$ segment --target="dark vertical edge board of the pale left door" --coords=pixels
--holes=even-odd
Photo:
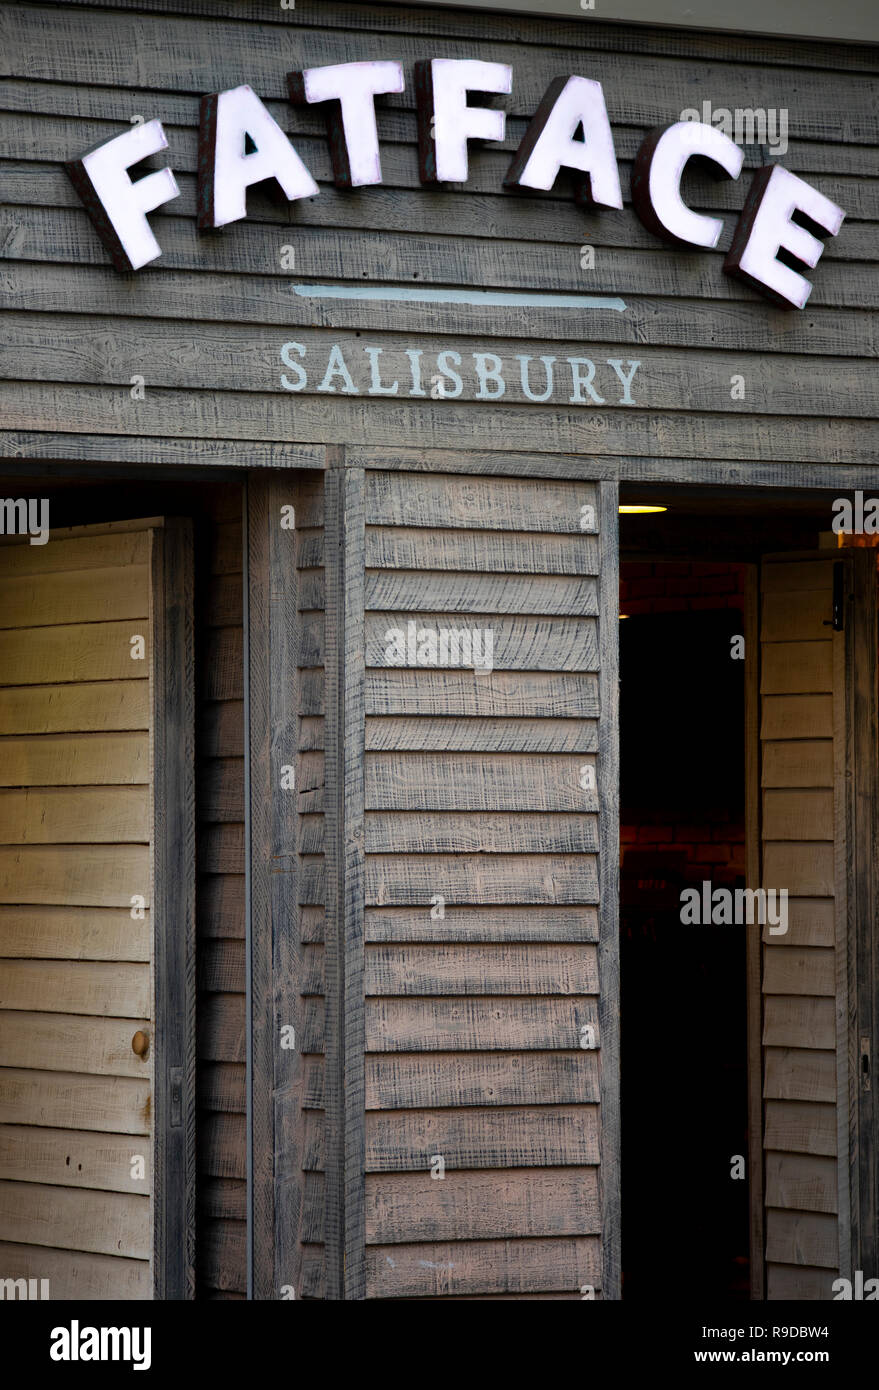
[[[195,1298],[195,631],[192,523],[153,523],[150,564],[153,1297]]]

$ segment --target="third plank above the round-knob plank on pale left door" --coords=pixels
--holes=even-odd
[[[90,908],[150,901],[147,845],[0,848],[0,902]]]

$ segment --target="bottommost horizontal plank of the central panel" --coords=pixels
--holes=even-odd
[[[441,1298],[451,1294],[529,1294],[601,1287],[597,1237],[453,1240],[446,1244],[370,1245],[367,1298]]]

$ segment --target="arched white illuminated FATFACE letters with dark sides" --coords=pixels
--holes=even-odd
[[[405,89],[399,63],[341,63],[288,74],[293,104],[318,106],[327,117],[332,174],[338,188],[381,183],[376,101]],[[414,65],[419,167],[426,185],[465,183],[471,140],[503,140],[506,115],[498,97],[513,89],[513,71],[502,63],[431,58]],[[140,270],[161,254],[147,213],[178,196],[170,168],[132,179],[129,170],[167,149],[160,121],[138,125],[67,164],[70,177],[122,271]],[[648,231],[676,246],[712,249],[723,220],[693,211],[682,193],[690,160],[701,160],[719,178],[737,179],[743,153],[722,131],[698,121],[677,121],[652,131],[641,145],[631,174],[634,210]],[[613,135],[599,82],[556,78],[548,88],[503,179],[505,188],[549,192],[561,170],[574,175],[574,196],[584,207],[622,208],[623,197]],[[197,220],[203,231],[228,227],[248,215],[248,189],[270,183],[293,203],[320,190],[291,140],[249,86],[202,99],[199,131]],[[777,304],[803,309],[811,284],[787,261],[814,268],[821,236],[836,236],[840,207],[782,165],[757,172],[732,249],[723,263]],[[779,260],[779,254],[784,259]]]

